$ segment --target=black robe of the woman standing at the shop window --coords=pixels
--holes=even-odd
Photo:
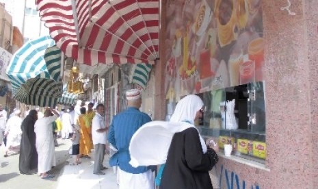
[[[176,133],[170,144],[160,189],[211,189],[213,186],[209,171],[217,161],[213,149],[202,153],[196,128]]]

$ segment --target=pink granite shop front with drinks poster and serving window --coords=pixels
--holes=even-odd
[[[201,97],[196,126],[220,147],[215,188],[318,187],[318,3],[289,2],[162,1],[155,97],[165,106],[155,103],[155,119]]]

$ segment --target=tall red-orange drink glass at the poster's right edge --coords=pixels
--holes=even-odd
[[[248,45],[248,58],[255,62],[255,80],[263,80],[264,39],[256,38]]]

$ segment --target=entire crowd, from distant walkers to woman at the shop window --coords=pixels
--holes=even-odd
[[[21,174],[38,173],[42,179],[50,179],[54,177],[49,171],[55,166],[56,138],[70,139],[70,164],[80,164],[81,157],[91,158],[94,149],[93,174],[105,175],[103,161],[109,142],[115,149],[109,165],[116,168],[120,189],[213,188],[209,171],[217,164],[218,147],[209,142],[211,138],[204,142],[194,126],[202,118],[204,104],[200,97],[187,95],[181,99],[168,122],[152,121],[140,111],[140,90],[128,90],[126,99],[127,109],[114,116],[109,127],[103,104],[96,105],[96,111],[94,103],[86,107],[77,103],[61,112],[47,108],[43,115],[39,110],[27,110],[24,119],[20,110],[14,110],[8,121],[0,105],[0,144],[3,136],[7,138],[4,156],[17,150]],[[157,166],[160,168],[155,178]]]

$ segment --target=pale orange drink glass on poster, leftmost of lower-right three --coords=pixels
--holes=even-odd
[[[230,86],[239,85],[239,64],[243,63],[243,54],[231,54],[228,60],[228,72],[230,73]]]

